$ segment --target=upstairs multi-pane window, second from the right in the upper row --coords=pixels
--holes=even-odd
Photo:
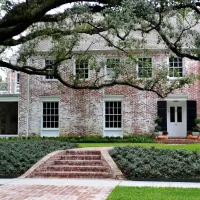
[[[138,59],[138,78],[152,77],[152,59],[139,58]]]

